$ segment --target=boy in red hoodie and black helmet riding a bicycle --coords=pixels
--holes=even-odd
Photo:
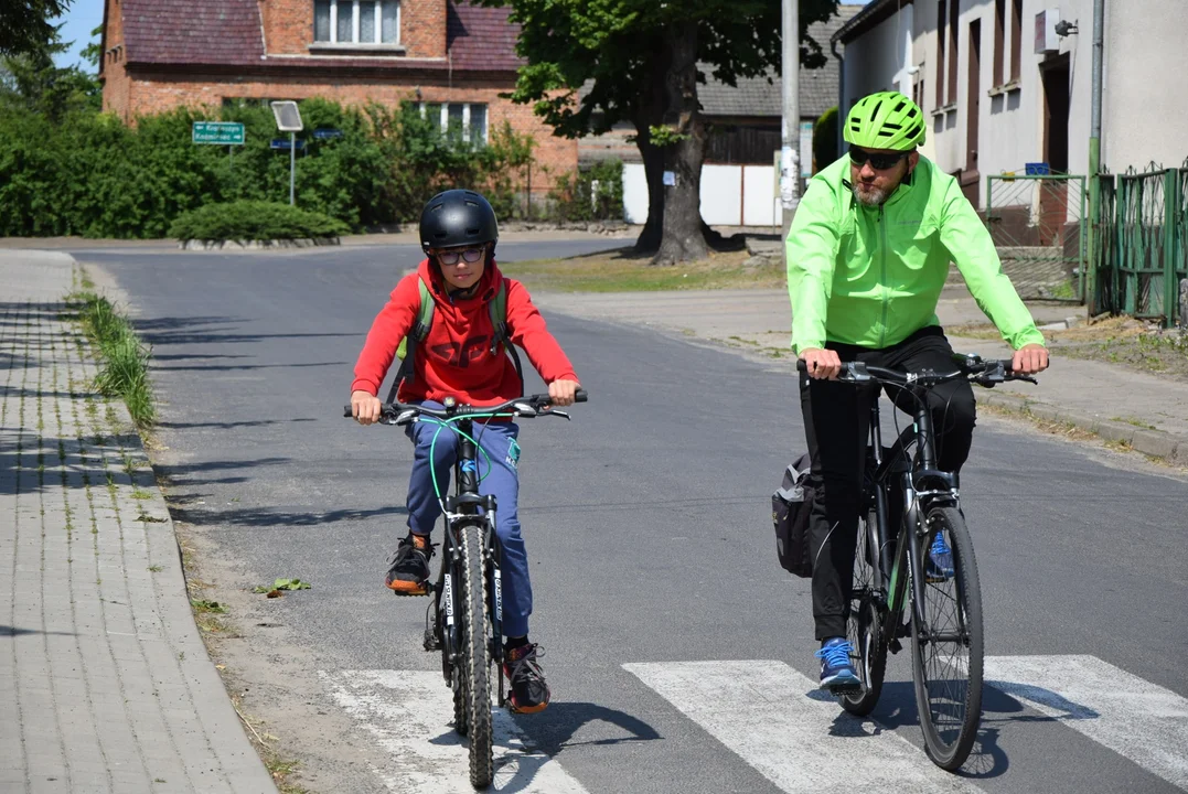
[[[355,419],[369,425],[379,419],[380,383],[396,356],[400,339],[417,322],[421,285],[429,287],[435,303],[434,319],[424,342],[416,344],[412,371],[400,382],[400,402],[426,402],[441,407],[447,396],[469,405],[498,405],[520,396],[523,383],[516,366],[501,349],[492,345],[494,328],[488,304],[501,284],[507,294],[507,338],[523,348],[549,385],[555,406],[574,402],[577,375],[561,345],[552,338],[544,318],[518,281],[504,279],[495,266],[499,227],[486,198],[469,190],[447,190],[429,199],[421,212],[421,248],[426,259],[416,274],[403,278],[372,323],[367,342],[355,364],[350,405]],[[434,547],[429,534],[441,515],[434,493],[437,482],[448,484],[457,455],[457,437],[442,431],[437,436],[436,459],[430,462],[430,445],[438,426],[415,423],[409,437],[415,444],[409,481],[409,535],[396,551],[386,584],[397,595],[428,592],[429,559]],[[517,517],[519,496],[519,427],[511,421],[488,421],[476,433],[487,455],[480,455],[479,489],[494,494],[499,502],[495,532],[503,546],[504,570],[504,673],[511,681],[511,710],[518,713],[542,711],[549,705],[549,686],[537,662],[543,649],[527,640],[527,617],[532,612],[532,587],[527,555]],[[489,463],[488,463],[489,460]]]

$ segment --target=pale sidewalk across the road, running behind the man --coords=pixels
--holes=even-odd
[[[632,325],[687,339],[725,345],[779,369],[792,371],[791,307],[784,290],[722,290],[563,294],[535,292],[548,310]],[[1036,323],[1063,320],[1080,306],[1029,305]],[[986,323],[965,287],[946,288],[936,310],[941,324]],[[1005,343],[950,337],[954,349],[986,357],[1010,357]],[[1144,455],[1188,465],[1188,385],[1118,364],[1054,356],[1040,385],[1009,383],[975,389],[982,405],[1069,423],[1106,440],[1123,442]],[[1142,425],[1149,425],[1144,427]]]

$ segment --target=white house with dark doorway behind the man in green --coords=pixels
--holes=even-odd
[[[1101,164],[1180,165],[1188,0],[1104,2]],[[1093,0],[873,0],[833,40],[845,44],[840,107],[876,90],[911,96],[931,122],[923,153],[975,207],[987,174],[1088,172]]]

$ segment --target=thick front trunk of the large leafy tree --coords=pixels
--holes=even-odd
[[[697,23],[671,25],[664,33],[671,53],[665,120],[678,140],[664,147],[664,170],[675,185],[664,186],[664,233],[656,265],[675,265],[708,255],[701,231],[701,164],[706,126],[697,107]]]

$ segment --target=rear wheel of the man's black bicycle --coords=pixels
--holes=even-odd
[[[846,639],[851,644],[851,659],[862,688],[838,695],[847,712],[865,717],[874,710],[883,693],[886,674],[887,643],[883,637],[883,609],[874,596],[874,555],[871,550],[878,542],[874,510],[858,522],[858,544],[854,547],[854,578],[849,589],[849,617],[846,620]]]

